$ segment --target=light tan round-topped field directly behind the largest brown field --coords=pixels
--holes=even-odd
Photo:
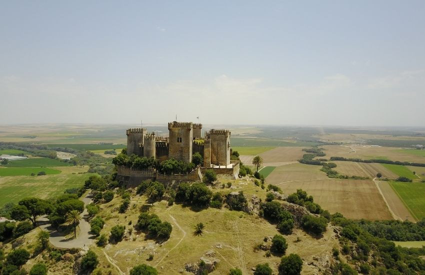
[[[321,166],[293,163],[276,167],[268,176],[267,183],[277,184],[287,181],[328,179],[320,171]]]

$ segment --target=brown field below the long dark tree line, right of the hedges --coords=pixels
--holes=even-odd
[[[368,176],[373,178],[377,173],[381,173],[383,177],[397,177],[397,175],[387,168],[383,167],[380,163],[361,163],[352,161],[332,161],[336,163],[334,170],[346,174],[348,176]]]

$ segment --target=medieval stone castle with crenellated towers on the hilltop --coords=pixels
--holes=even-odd
[[[146,128],[132,128],[126,131],[127,154],[154,157],[159,161],[169,158],[191,162],[192,155],[198,152],[202,167],[231,168],[230,131],[211,129],[202,136],[202,124],[193,122],[168,123],[168,137],[155,136]]]

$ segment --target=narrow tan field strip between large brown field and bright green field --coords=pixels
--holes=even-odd
[[[388,181],[376,180],[375,183],[379,188],[381,194],[383,195],[387,206],[394,214],[395,218],[399,220],[405,220],[406,217],[408,217],[408,220],[416,221],[416,219],[412,217],[409,210],[401,201],[400,197],[391,188]]]

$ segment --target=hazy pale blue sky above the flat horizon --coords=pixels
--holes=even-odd
[[[425,126],[425,1],[0,0],[0,123]]]

